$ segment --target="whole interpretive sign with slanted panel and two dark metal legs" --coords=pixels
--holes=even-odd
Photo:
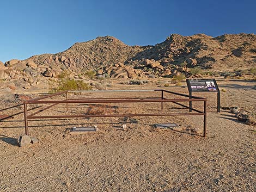
[[[188,92],[217,92],[217,112],[221,112],[221,93],[215,79],[186,79]],[[192,102],[190,101],[190,112],[192,112]]]

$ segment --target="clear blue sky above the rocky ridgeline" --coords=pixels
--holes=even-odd
[[[256,33],[256,1],[0,1],[0,60],[64,51],[111,35],[128,45],[155,45],[173,33]]]

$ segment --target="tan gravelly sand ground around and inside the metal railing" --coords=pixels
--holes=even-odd
[[[219,85],[225,89],[221,92],[222,107],[239,106],[255,114],[255,82],[221,81]],[[111,89],[159,87],[116,84]],[[186,88],[164,89],[187,94]],[[216,113],[216,94],[201,96],[210,101],[206,138],[200,136],[202,116],[31,120],[29,131],[40,141],[19,147],[17,138],[24,133],[23,114],[3,120],[0,191],[255,191],[255,127],[237,121],[228,111]],[[13,104],[2,100],[1,108]],[[88,106],[70,106],[70,113],[81,113],[82,107],[88,111]],[[200,104],[194,107],[202,109]],[[54,107],[41,115],[58,114],[64,108]],[[120,104],[117,110],[161,112],[156,103]],[[166,104],[163,111],[187,109]],[[153,127],[163,122],[177,123],[182,130]],[[126,128],[122,127],[124,123]],[[96,125],[99,132],[69,134],[71,127],[85,125]]]

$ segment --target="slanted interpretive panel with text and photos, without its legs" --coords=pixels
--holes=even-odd
[[[215,79],[187,79],[189,92],[219,92]]]

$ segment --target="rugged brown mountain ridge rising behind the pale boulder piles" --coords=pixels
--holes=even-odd
[[[172,34],[155,46],[128,46],[112,36],[76,43],[64,52],[35,55],[38,65],[58,65],[71,70],[97,69],[123,63],[140,65],[144,59],[159,61],[164,67],[182,65],[202,69],[255,67],[256,35],[233,34],[212,38],[204,34]]]

